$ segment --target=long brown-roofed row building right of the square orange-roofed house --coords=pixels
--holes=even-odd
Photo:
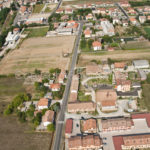
[[[100,126],[102,132],[123,131],[131,129],[133,123],[130,118],[106,118],[101,120]]]

